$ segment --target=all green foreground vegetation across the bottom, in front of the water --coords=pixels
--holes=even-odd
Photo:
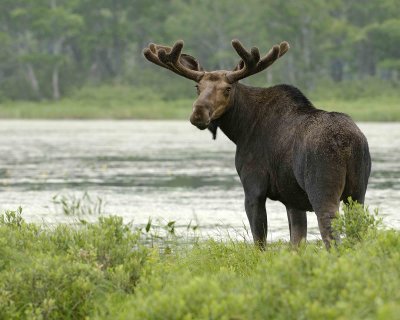
[[[0,318],[396,319],[400,233],[357,204],[336,221],[342,242],[260,252],[192,239],[119,217],[54,227],[0,218]],[[186,239],[187,240],[187,239]]]

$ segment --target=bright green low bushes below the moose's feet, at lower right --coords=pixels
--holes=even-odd
[[[395,231],[332,252],[319,243],[299,250],[272,244],[260,252],[244,243],[203,242],[153,257],[135,295],[111,297],[99,317],[396,319],[399,245]]]

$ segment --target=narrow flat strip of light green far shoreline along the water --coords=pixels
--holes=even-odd
[[[313,104],[327,111],[344,112],[357,122],[400,121],[400,98],[378,96],[356,100],[311,99]],[[131,100],[65,98],[45,100],[4,101],[0,103],[0,119],[35,120],[187,120],[191,99]]]

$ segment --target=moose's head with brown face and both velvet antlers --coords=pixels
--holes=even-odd
[[[237,66],[232,71],[210,72],[205,71],[194,57],[181,53],[183,41],[177,41],[173,47],[151,43],[143,50],[149,61],[197,83],[198,98],[193,103],[190,122],[201,130],[232,106],[237,81],[266,69],[289,49],[289,44],[284,41],[261,58],[256,47],[248,51],[239,40],[232,40],[232,46],[241,58]]]

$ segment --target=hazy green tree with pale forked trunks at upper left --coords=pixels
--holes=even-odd
[[[51,93],[59,99],[60,69],[68,62],[68,43],[83,26],[81,16],[73,12],[78,0],[21,0],[11,10],[16,28],[17,55],[26,66],[32,90],[41,96],[35,69],[46,69],[51,81]]]

